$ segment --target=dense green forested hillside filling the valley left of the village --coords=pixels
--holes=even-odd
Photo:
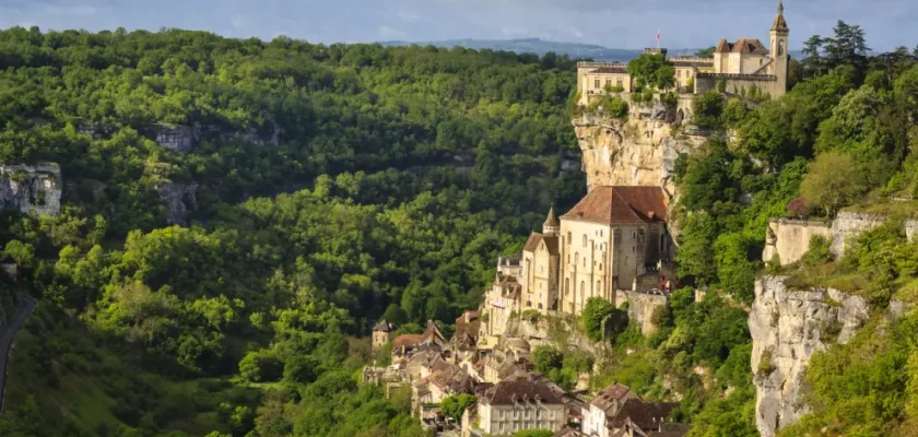
[[[64,187],[57,217],[2,216],[39,306],[0,434],[421,435],[408,393],[357,388],[362,339],[475,308],[584,192],[574,79],[551,55],[0,32],[0,161]],[[205,134],[183,153],[157,125]],[[166,182],[199,186],[188,226]]]

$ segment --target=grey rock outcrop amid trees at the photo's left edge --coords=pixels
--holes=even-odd
[[[0,209],[57,215],[62,187],[58,164],[0,165]]]

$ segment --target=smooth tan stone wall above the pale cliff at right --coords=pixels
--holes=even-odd
[[[762,260],[768,262],[777,255],[781,265],[799,261],[810,250],[812,237],[820,236],[828,241],[833,239],[832,228],[825,222],[772,218],[768,228],[770,234],[766,236]]]

